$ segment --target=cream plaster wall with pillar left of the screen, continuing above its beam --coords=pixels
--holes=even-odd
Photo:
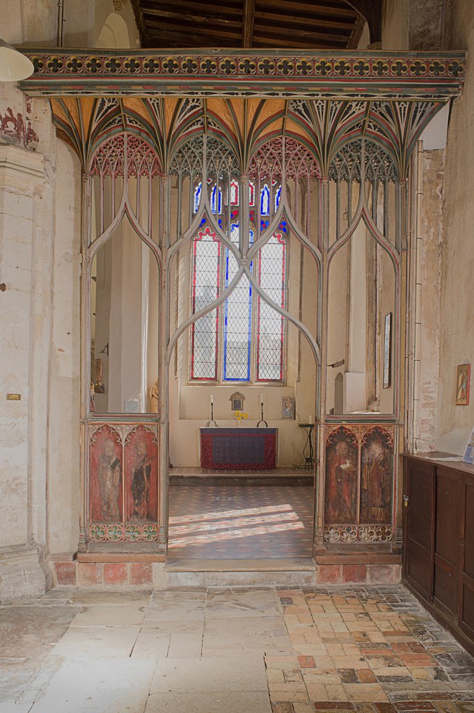
[[[105,0],[104,0],[105,2]],[[94,3],[74,8],[92,44]],[[1,36],[54,46],[57,2],[5,0]],[[133,33],[132,33],[133,35]],[[66,41],[68,36],[66,30]],[[41,593],[78,547],[81,167],[47,100],[0,84],[0,600]],[[5,394],[21,394],[6,401]]]

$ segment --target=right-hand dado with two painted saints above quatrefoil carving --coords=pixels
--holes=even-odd
[[[326,428],[324,542],[386,543],[393,535],[394,430]]]

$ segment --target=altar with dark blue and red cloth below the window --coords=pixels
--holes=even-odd
[[[277,467],[278,429],[200,429],[201,468],[266,471]]]

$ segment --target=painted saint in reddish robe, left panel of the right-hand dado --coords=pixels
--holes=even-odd
[[[326,523],[356,521],[356,449],[345,440],[331,448],[326,471]]]

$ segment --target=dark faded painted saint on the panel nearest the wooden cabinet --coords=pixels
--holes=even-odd
[[[391,522],[392,453],[375,434],[362,451],[361,520],[366,523]]]

